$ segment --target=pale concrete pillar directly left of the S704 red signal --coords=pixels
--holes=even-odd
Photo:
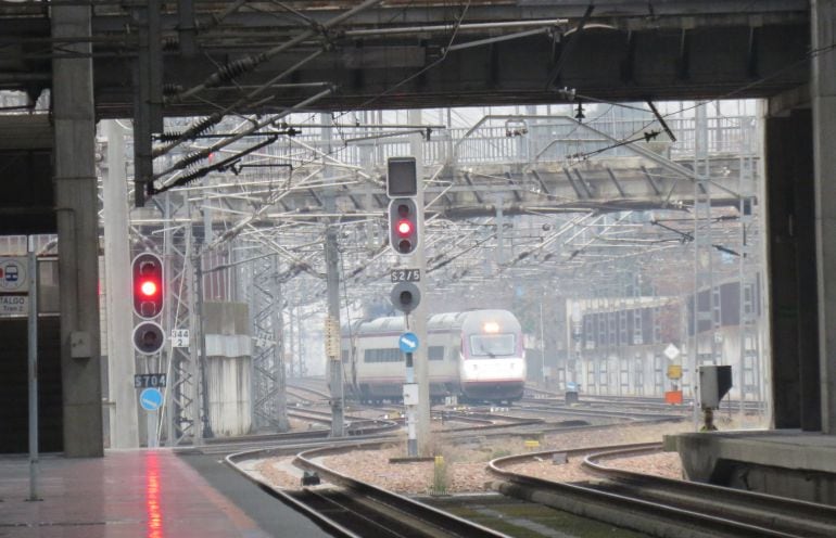
[[[104,123],[107,138],[107,177],[103,181],[104,272],[107,304],[107,389],[111,448],[139,447],[136,363],[131,342],[132,310],[128,252],[128,190],[125,170],[125,129]]]

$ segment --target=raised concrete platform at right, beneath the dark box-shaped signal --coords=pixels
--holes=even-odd
[[[836,505],[836,436],[800,430],[670,436],[692,481]]]

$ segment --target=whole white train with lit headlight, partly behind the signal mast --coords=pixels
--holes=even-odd
[[[403,317],[379,318],[343,329],[342,360],[347,384],[362,401],[397,400],[406,380],[397,341]],[[430,396],[470,401],[522,397],[525,355],[517,318],[506,310],[439,313],[427,322]]]

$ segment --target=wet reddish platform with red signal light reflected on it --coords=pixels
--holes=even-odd
[[[25,456],[0,456],[0,537],[326,537],[217,456],[109,450],[46,454],[30,501]]]

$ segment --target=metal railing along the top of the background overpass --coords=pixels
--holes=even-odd
[[[751,132],[756,121],[755,116],[708,118],[709,157],[738,156],[742,148],[757,155],[759,141],[744,144],[744,137]],[[425,131],[423,163],[429,166],[569,163],[596,157],[635,156],[637,153],[631,149],[632,144],[642,144],[672,161],[693,158],[696,140],[694,119],[671,118],[667,119],[667,124],[676,137],[675,142],[651,116],[596,119],[583,124],[567,116],[485,116],[473,128],[432,130],[429,137]],[[385,127],[366,128],[360,133],[341,130],[334,133],[331,141],[322,140],[319,128],[309,132],[283,139],[258,155],[299,167],[321,163],[327,154],[343,165],[368,168],[410,151],[407,133],[393,132]],[[645,140],[645,133],[651,132],[658,133]],[[363,140],[353,140],[352,137]],[[610,139],[626,143],[617,145]]]

